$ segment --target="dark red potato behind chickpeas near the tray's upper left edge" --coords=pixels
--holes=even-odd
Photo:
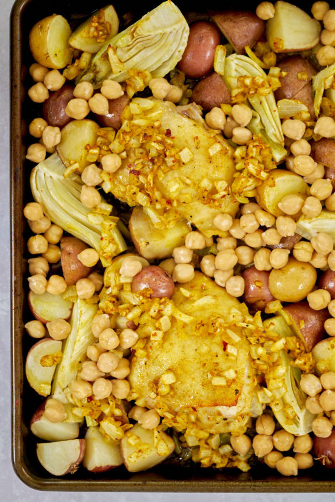
[[[72,120],[65,113],[65,108],[70,99],[74,98],[73,89],[72,85],[65,84],[58,91],[51,92],[44,101],[43,116],[49,126],[62,128]]]

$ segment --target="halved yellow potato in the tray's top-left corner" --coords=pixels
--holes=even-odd
[[[30,31],[29,46],[34,59],[47,68],[64,68],[72,61],[71,28],[63,16],[42,19]]]

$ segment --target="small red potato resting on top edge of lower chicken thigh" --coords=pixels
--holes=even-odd
[[[152,298],[171,298],[174,293],[174,282],[161,267],[149,265],[149,267],[144,267],[132,282],[133,293],[146,288],[152,289]]]

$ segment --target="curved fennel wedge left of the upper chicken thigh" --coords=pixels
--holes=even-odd
[[[30,186],[33,197],[44,214],[71,235],[97,250],[102,265],[127,249],[117,227],[118,218],[109,216],[111,206],[102,202],[91,210],[80,201],[81,178],[64,178],[65,166],[55,153],[32,170]]]

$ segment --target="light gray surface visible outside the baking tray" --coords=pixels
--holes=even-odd
[[[107,2],[106,2],[107,3]],[[63,493],[39,492],[27,487],[14,473],[11,464],[11,402],[10,402],[10,224],[9,224],[9,17],[13,0],[0,0],[0,498],[3,502],[330,502],[333,494],[169,494],[169,493]],[[334,473],[335,474],[335,473]]]

